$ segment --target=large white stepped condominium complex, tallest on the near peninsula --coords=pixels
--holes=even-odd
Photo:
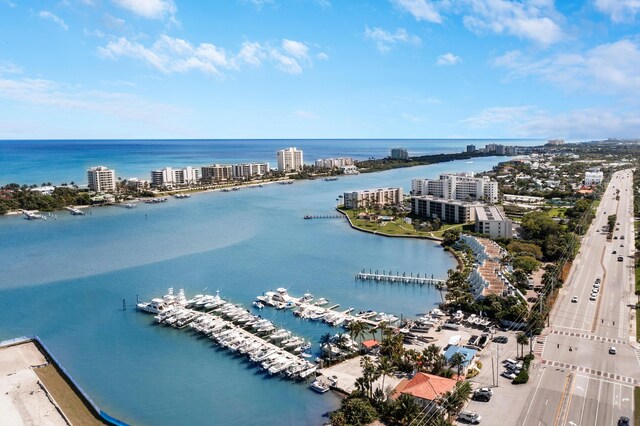
[[[451,200],[498,201],[498,182],[487,176],[476,178],[472,173],[443,174],[439,179],[413,179],[413,195],[433,195]]]

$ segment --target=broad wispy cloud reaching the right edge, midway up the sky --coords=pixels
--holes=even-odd
[[[494,65],[511,70],[511,78],[539,76],[568,90],[640,94],[640,45],[619,40],[585,53],[561,53],[532,60],[519,51],[507,52]]]

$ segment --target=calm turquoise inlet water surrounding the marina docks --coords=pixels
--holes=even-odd
[[[187,296],[220,289],[249,306],[287,287],[341,308],[415,316],[440,301],[429,287],[355,282],[362,268],[446,276],[455,266],[428,241],[376,237],[332,211],[345,190],[401,185],[414,177],[490,169],[504,158],[202,193],[135,209],[58,212],[58,220],[0,218],[0,340],[38,334],[109,414],[132,424],[320,424],[338,399],[270,378],[209,340],[153,324],[136,312],[168,287]],[[128,309],[122,310],[122,299]],[[262,315],[314,341],[337,329],[265,309]]]

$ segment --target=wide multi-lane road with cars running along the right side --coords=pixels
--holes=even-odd
[[[615,173],[560,290],[551,327],[536,339],[533,388],[519,425],[615,425],[620,416],[633,418],[640,349],[630,307],[637,301],[632,197],[631,172]],[[612,214],[619,224],[608,241],[602,229]],[[590,300],[597,278],[600,291]],[[616,354],[609,353],[612,346]]]

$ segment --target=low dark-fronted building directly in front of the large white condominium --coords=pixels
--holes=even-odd
[[[411,197],[411,212],[425,219],[438,218],[446,223],[466,223],[475,220],[475,207],[478,203],[459,200],[445,200],[431,195]]]

